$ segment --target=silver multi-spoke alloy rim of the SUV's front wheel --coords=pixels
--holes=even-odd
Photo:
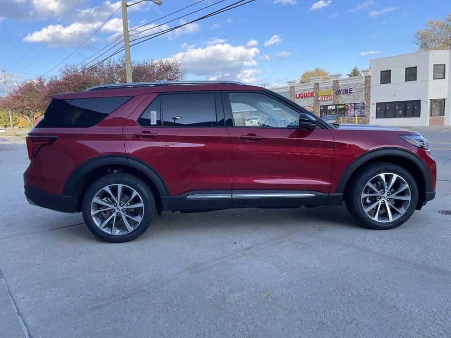
[[[392,172],[384,172],[370,179],[361,194],[365,214],[373,221],[396,221],[408,210],[412,199],[406,180]]]

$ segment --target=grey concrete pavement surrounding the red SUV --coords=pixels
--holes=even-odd
[[[451,131],[423,133],[449,149],[437,198],[396,229],[345,207],[166,212],[124,244],[28,205],[24,140],[0,137],[0,337],[450,337]]]

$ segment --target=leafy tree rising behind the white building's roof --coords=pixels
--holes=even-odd
[[[427,21],[426,29],[416,31],[413,41],[420,52],[451,49],[451,14],[443,21]]]

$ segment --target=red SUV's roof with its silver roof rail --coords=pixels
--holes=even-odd
[[[57,99],[111,97],[111,96],[136,96],[151,93],[174,93],[194,91],[262,91],[264,88],[250,86],[232,81],[178,81],[178,82],[141,82],[113,85],[101,85],[88,88],[84,92],[73,92],[51,95]]]

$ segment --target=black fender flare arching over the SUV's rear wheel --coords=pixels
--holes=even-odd
[[[63,195],[72,196],[77,188],[78,182],[80,182],[84,175],[98,167],[107,165],[122,165],[137,169],[148,176],[155,184],[160,196],[168,195],[168,189],[155,169],[136,158],[126,155],[101,155],[87,160],[70,174],[64,185]]]

